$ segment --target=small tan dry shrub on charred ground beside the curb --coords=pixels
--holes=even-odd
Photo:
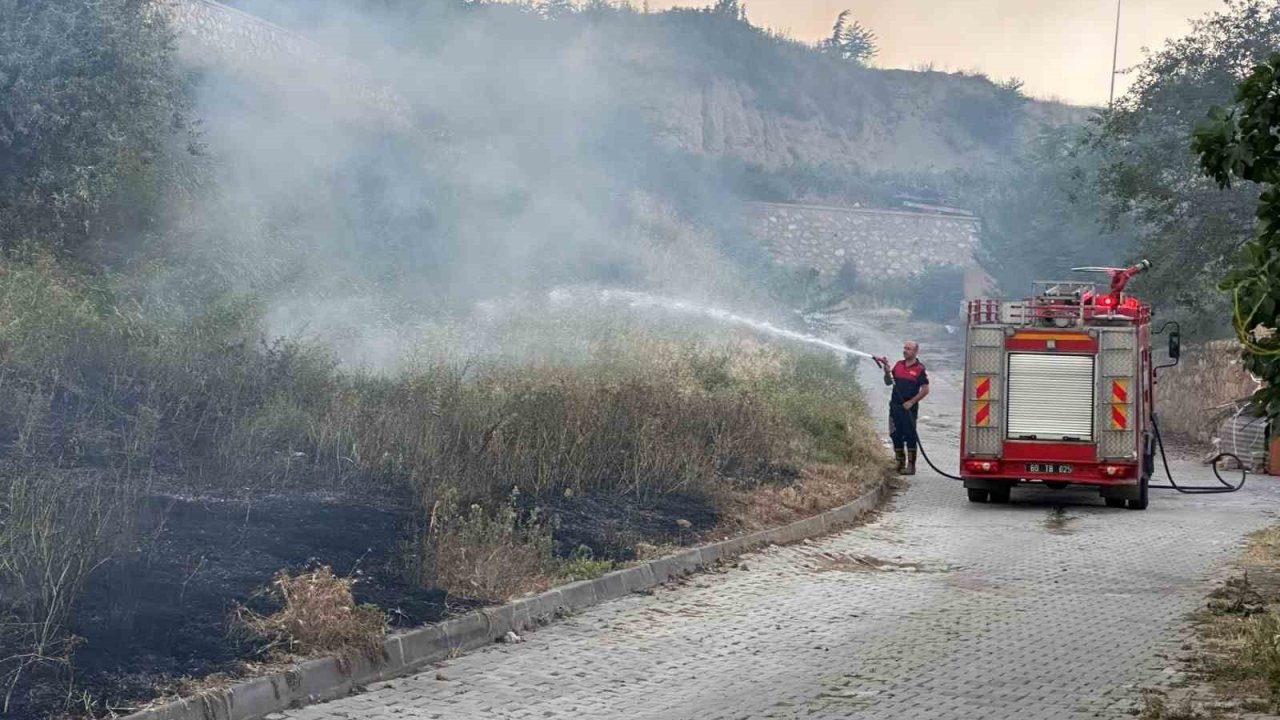
[[[237,607],[234,625],[265,644],[264,656],[311,656],[360,652],[383,656],[387,615],[370,605],[356,605],[352,578],[338,578],[324,566],[289,575],[276,574],[268,594],[280,605],[271,615]]]

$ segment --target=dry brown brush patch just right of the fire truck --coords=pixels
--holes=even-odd
[[[1244,369],[1235,341],[1185,346],[1181,363],[1161,372],[1156,386],[1160,429],[1166,437],[1208,445],[1217,430],[1215,419],[1231,402],[1253,395],[1257,387]]]

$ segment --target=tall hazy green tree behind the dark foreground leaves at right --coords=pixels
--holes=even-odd
[[[1220,192],[1197,167],[1187,138],[1203,109],[1230,101],[1252,67],[1280,47],[1280,0],[1229,0],[1192,32],[1152,54],[1132,88],[1094,128],[1110,158],[1100,174],[1108,217],[1138,232],[1133,255],[1155,260],[1143,292],[1212,327],[1222,313],[1213,292],[1248,237],[1253,197]]]

